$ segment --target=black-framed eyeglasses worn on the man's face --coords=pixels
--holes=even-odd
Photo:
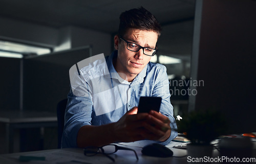
[[[127,50],[130,50],[133,52],[138,52],[140,49],[142,49],[143,54],[145,54],[147,56],[154,56],[156,54],[156,52],[158,51],[157,49],[144,48],[143,46],[140,46],[139,44],[125,40],[121,36],[119,38],[127,43],[127,46],[126,46]]]

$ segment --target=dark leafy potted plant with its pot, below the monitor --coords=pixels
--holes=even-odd
[[[197,110],[177,116],[177,127],[191,142],[187,144],[188,156],[210,156],[210,142],[225,132],[225,120],[218,111]]]

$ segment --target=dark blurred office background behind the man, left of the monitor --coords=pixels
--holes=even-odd
[[[1,0],[0,4],[0,40],[52,51],[45,56],[25,52],[24,59],[0,58],[1,111],[55,111],[57,102],[69,91],[69,68],[90,54],[109,55],[120,13],[140,6],[151,11],[163,26],[160,53],[183,61],[166,64],[168,74],[189,76],[195,1]],[[187,106],[187,101],[182,103]],[[5,127],[1,124],[0,128],[0,142],[5,145]],[[45,128],[44,138],[40,138],[40,130],[15,130],[14,151],[57,148],[56,128]],[[0,153],[6,153],[4,146]]]

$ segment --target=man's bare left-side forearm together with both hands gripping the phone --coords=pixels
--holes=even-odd
[[[138,114],[137,111],[138,107],[132,108],[116,123],[82,126],[77,134],[77,146],[103,146],[142,139],[163,142],[170,136],[170,121],[166,116],[153,110]]]

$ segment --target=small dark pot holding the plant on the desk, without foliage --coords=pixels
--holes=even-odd
[[[187,157],[189,163],[204,163],[204,160],[212,156],[212,145],[187,144]]]

